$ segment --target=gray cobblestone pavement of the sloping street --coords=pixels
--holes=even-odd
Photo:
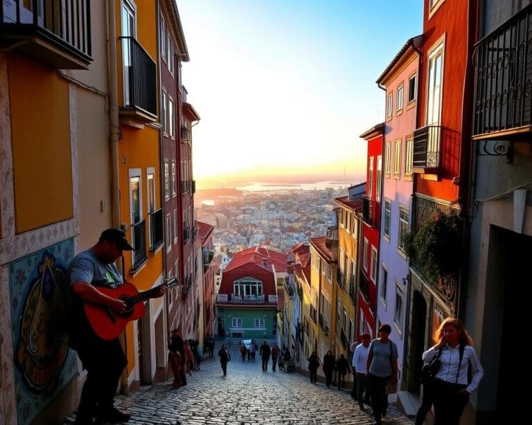
[[[215,353],[220,349],[217,341]],[[257,353],[255,363],[242,363],[235,344],[227,377],[217,359],[206,360],[187,377],[188,385],[171,388],[166,383],[145,387],[128,396],[118,395],[115,405],[129,410],[127,424],[251,425],[251,424],[360,424],[373,423],[348,390],[312,384],[296,373],[263,372]],[[390,406],[383,424],[411,424]],[[69,418],[67,424],[73,419]]]

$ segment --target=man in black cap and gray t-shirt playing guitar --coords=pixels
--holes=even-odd
[[[69,266],[71,302],[69,303],[69,344],[78,352],[87,379],[83,386],[75,424],[97,422],[127,422],[129,413],[114,407],[113,400],[127,358],[118,338],[106,340],[94,332],[83,303],[99,305],[109,315],[123,315],[130,306],[122,299],[108,296],[98,287],[117,288],[124,282],[114,262],[123,251],[134,248],[125,233],[116,228],[104,230],[92,248],[82,251]],[[152,290],[149,298],[161,297],[166,286]]]

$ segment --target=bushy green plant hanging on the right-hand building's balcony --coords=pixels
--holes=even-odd
[[[454,214],[437,213],[415,232],[405,233],[407,255],[430,282],[442,276],[455,276],[461,264],[461,219]]]

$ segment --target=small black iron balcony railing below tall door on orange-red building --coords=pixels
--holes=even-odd
[[[414,168],[440,168],[440,125],[425,125],[414,130]]]

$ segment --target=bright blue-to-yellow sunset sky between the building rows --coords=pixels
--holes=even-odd
[[[375,80],[422,33],[422,0],[177,0],[199,186],[365,179]]]

